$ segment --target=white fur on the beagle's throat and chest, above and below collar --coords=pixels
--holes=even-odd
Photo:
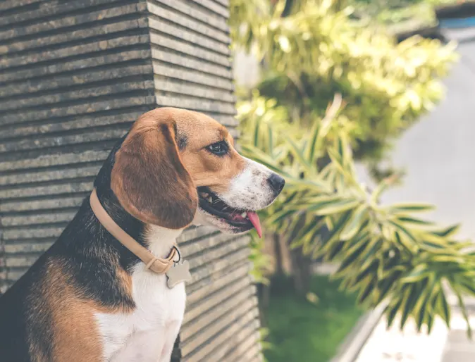
[[[165,257],[181,230],[151,227],[146,235],[149,249]],[[104,361],[169,362],[185,313],[185,283],[172,289],[166,275],[146,270],[138,263],[132,271],[130,314],[97,314],[104,346]]]

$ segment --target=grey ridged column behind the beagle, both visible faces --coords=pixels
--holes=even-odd
[[[227,0],[0,1],[2,290],[141,113],[179,106],[235,127],[228,15]],[[175,361],[260,361],[247,242],[209,227],[181,237],[193,280]]]

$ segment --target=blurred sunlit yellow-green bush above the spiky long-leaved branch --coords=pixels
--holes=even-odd
[[[307,129],[333,94],[342,94],[347,106],[338,121],[356,158],[381,160],[395,137],[443,96],[439,78],[456,58],[452,44],[437,40],[396,44],[381,27],[352,20],[343,1],[233,0],[231,6],[233,46],[263,65],[259,94]]]

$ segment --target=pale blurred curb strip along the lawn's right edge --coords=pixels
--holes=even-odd
[[[380,304],[372,311],[365,313],[362,318],[359,318],[350,334],[340,344],[337,355],[330,362],[354,362],[374,327],[381,319],[385,307],[385,303]]]

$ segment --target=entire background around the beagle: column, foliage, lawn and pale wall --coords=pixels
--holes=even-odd
[[[156,106],[286,179],[185,230],[172,361],[475,361],[475,2],[0,0],[0,292]]]

